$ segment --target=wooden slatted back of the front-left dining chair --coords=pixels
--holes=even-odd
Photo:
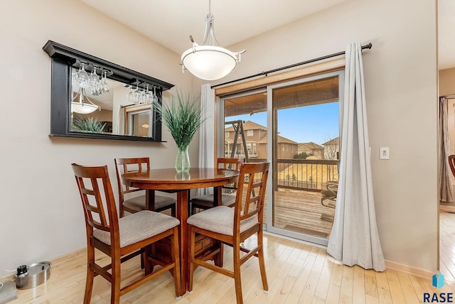
[[[91,235],[93,228],[101,229],[111,233],[112,241],[118,241],[117,209],[107,166],[87,167],[73,163],[72,167],[85,214],[87,234]]]

